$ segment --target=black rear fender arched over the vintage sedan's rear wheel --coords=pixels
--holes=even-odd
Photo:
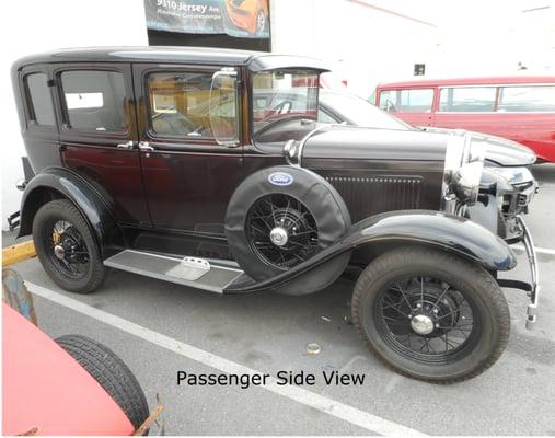
[[[21,200],[18,238],[31,234],[36,211],[53,198],[71,200],[89,222],[101,254],[108,247],[123,247],[123,233],[106,200],[81,176],[62,168],[48,168],[33,177]]]

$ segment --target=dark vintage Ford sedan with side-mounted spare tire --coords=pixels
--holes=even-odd
[[[192,48],[72,49],[13,67],[33,171],[20,235],[60,287],[107,267],[220,293],[311,293],[362,268],[352,320],[398,372],[453,382],[509,336],[500,286],[537,268],[525,166],[501,141],[317,122],[317,60]],[[273,96],[288,92],[294,102]],[[531,160],[530,162],[532,162]],[[499,278],[527,249],[531,281]]]

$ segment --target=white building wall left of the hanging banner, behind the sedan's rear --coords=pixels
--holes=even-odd
[[[23,177],[20,158],[25,154],[14,111],[10,68],[25,55],[62,47],[146,46],[147,28],[142,0],[26,0],[2,4],[2,229],[7,216],[19,210]]]

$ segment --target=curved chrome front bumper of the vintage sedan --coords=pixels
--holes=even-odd
[[[540,268],[537,265],[537,255],[535,252],[534,241],[532,234],[522,219],[518,216],[517,220],[522,228],[522,243],[527,253],[528,264],[530,268],[530,283],[512,280],[512,279],[498,279],[499,286],[509,287],[514,289],[525,290],[530,297],[530,303],[527,310],[527,328],[531,330],[537,316],[537,302],[540,299]]]

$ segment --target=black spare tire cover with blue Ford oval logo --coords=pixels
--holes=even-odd
[[[258,199],[274,194],[288,195],[308,208],[317,228],[314,254],[335,243],[350,227],[349,211],[343,198],[316,173],[289,165],[253,173],[241,183],[230,199],[226,214],[226,235],[231,254],[255,280],[265,280],[287,270],[268,264],[261,257],[248,242],[246,231],[251,208]]]

